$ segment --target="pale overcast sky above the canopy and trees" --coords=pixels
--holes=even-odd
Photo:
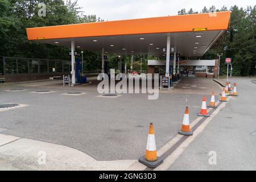
[[[254,6],[255,0],[79,0],[85,15],[95,14],[105,20],[147,18],[154,16],[176,15],[177,11],[192,7],[201,11],[204,6],[212,5],[220,9],[222,6],[238,5],[238,7]]]

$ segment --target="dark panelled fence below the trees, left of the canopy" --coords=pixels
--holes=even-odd
[[[2,70],[1,70],[2,68]],[[31,59],[24,57],[3,57],[0,73],[24,74],[24,73],[70,73],[71,61]]]

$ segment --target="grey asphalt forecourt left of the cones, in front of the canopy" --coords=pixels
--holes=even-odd
[[[148,170],[151,168],[139,163],[138,159],[145,155],[148,127],[152,123],[155,132],[155,152],[163,158],[163,164],[155,168],[159,169],[161,166],[168,166],[169,163],[165,162],[168,156],[184,142],[195,138],[201,131],[200,126],[208,123],[220,108],[225,106],[226,102],[218,102],[221,97],[215,94],[217,109],[208,107],[205,110],[205,106],[209,105],[212,99],[212,91],[221,92],[216,82],[205,80],[207,79],[197,80],[200,93],[192,90],[189,94],[189,88],[186,88],[185,93],[182,89],[177,92],[174,88],[169,94],[160,92],[158,100],[148,100],[146,94],[98,97],[100,94],[94,84],[73,88],[63,88],[59,84],[1,87],[1,104],[18,103],[27,106],[2,111],[0,133],[67,146],[97,161],[129,161],[129,165],[125,165],[123,169]],[[179,84],[189,85],[191,79],[181,80],[176,85],[177,89]],[[191,85],[191,89],[197,87],[194,84]],[[16,87],[24,91],[6,91]],[[49,90],[51,93],[31,93],[40,90]],[[63,95],[69,92],[86,94],[76,97]],[[204,101],[204,96],[207,102]],[[183,118],[186,106],[189,110],[189,119],[192,121],[190,129],[193,131],[193,135],[189,137],[178,134],[179,130],[188,128],[188,121],[184,121]],[[198,117],[198,114],[204,115],[205,111],[210,117]],[[186,133],[187,130],[183,132]],[[13,147],[12,150],[15,150],[15,145]],[[154,142],[153,146],[148,148],[154,148]],[[4,153],[1,155],[5,156]]]

